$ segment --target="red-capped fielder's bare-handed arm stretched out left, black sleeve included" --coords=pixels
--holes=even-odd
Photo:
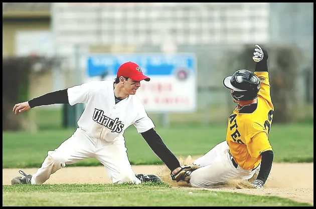
[[[52,104],[69,104],[67,89],[49,92],[29,101],[18,103],[13,107],[12,111],[17,114],[18,112],[25,112],[34,107]]]

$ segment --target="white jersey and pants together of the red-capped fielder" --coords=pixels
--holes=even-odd
[[[113,81],[90,81],[68,88],[69,104],[86,104],[77,130],[57,149],[47,152],[32,184],[43,184],[52,173],[86,158],[96,158],[113,183],[140,183],[127,157],[123,133],[134,124],[138,133],[153,128],[137,96],[129,95],[115,104]]]

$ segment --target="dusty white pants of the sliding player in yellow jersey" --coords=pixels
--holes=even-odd
[[[190,184],[194,187],[217,187],[229,179],[248,180],[255,174],[255,170],[244,170],[233,165],[226,140],[198,158],[194,164],[203,166],[190,175]]]

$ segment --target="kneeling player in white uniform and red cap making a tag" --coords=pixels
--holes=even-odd
[[[85,158],[98,159],[113,183],[161,181],[153,174],[135,175],[133,172],[123,136],[132,124],[171,173],[179,172],[179,160],[155,132],[152,120],[135,96],[142,80],[149,81],[150,78],[143,75],[136,63],[126,62],[119,67],[114,82],[90,81],[16,104],[13,108],[15,114],[43,105],[84,103],[86,106],[78,120],[77,130],[57,149],[48,151],[37,172],[27,175],[20,170],[23,176],[13,178],[11,183],[43,184],[60,168]]]

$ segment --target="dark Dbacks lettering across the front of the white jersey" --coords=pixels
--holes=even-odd
[[[119,118],[115,118],[114,120],[112,118],[107,117],[104,115],[103,110],[98,110],[94,108],[94,113],[92,117],[93,121],[97,122],[100,125],[103,125],[111,130],[111,132],[117,132],[121,133],[124,127],[124,124],[122,124],[122,121],[119,121]]]

